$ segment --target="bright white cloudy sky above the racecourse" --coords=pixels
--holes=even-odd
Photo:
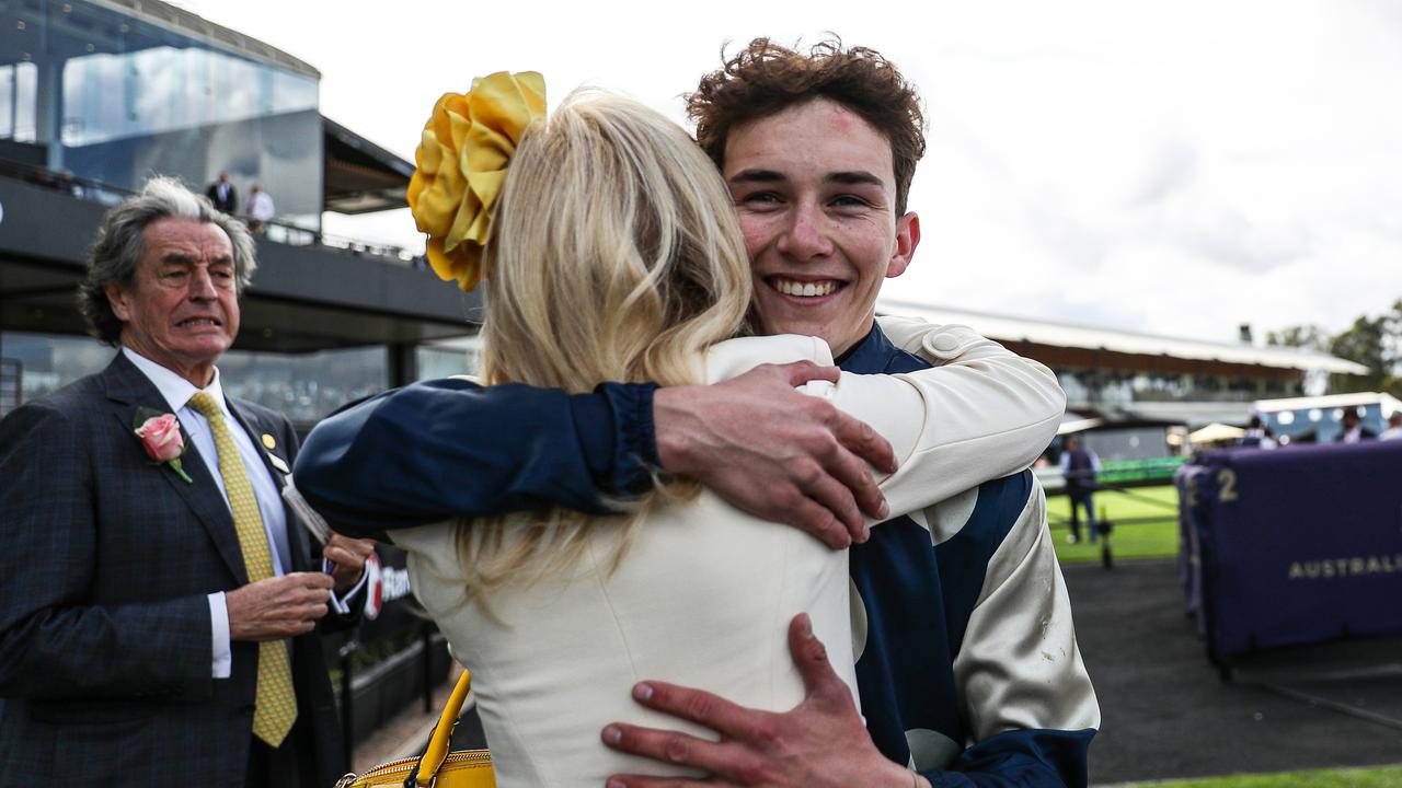
[[[1402,3],[182,0],[322,73],[321,109],[412,158],[502,69],[683,119],[725,42],[872,46],[921,88],[924,240],[901,300],[1232,341],[1402,297]],[[684,8],[711,8],[691,18]],[[421,245],[407,212],[328,231]]]

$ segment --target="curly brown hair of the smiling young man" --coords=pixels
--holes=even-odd
[[[925,154],[925,118],[914,86],[880,52],[844,49],[833,38],[803,55],[756,38],[686,97],[697,142],[716,167],[725,165],[732,128],[815,98],[841,104],[890,140],[896,216],[904,215],[916,163]]]

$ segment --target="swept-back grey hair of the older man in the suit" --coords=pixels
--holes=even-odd
[[[209,198],[186,189],[175,178],[157,175],[140,193],[129,196],[107,212],[93,241],[87,276],[79,285],[79,308],[87,318],[88,332],[108,345],[122,337],[122,321],[107,300],[107,286],[130,290],[136,286],[136,266],[146,248],[143,233],[153,222],[168,217],[193,219],[213,224],[229,236],[234,248],[234,287],[243,292],[258,268],[254,238],[243,222],[215,210]]]

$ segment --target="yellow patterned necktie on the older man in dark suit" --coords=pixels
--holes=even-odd
[[[209,430],[215,435],[219,449],[219,475],[224,477],[224,492],[229,494],[229,508],[234,513],[234,530],[238,531],[238,547],[244,552],[244,568],[248,582],[257,583],[272,576],[272,552],[268,550],[268,533],[264,530],[262,515],[258,513],[258,498],[248,481],[244,458],[234,444],[234,436],[224,422],[224,412],[215,398],[199,391],[189,398],[189,407],[205,414]],[[254,736],[271,747],[276,747],[292,731],[297,719],[297,695],[292,690],[292,659],[283,641],[262,641],[258,644],[258,695],[254,708]]]

